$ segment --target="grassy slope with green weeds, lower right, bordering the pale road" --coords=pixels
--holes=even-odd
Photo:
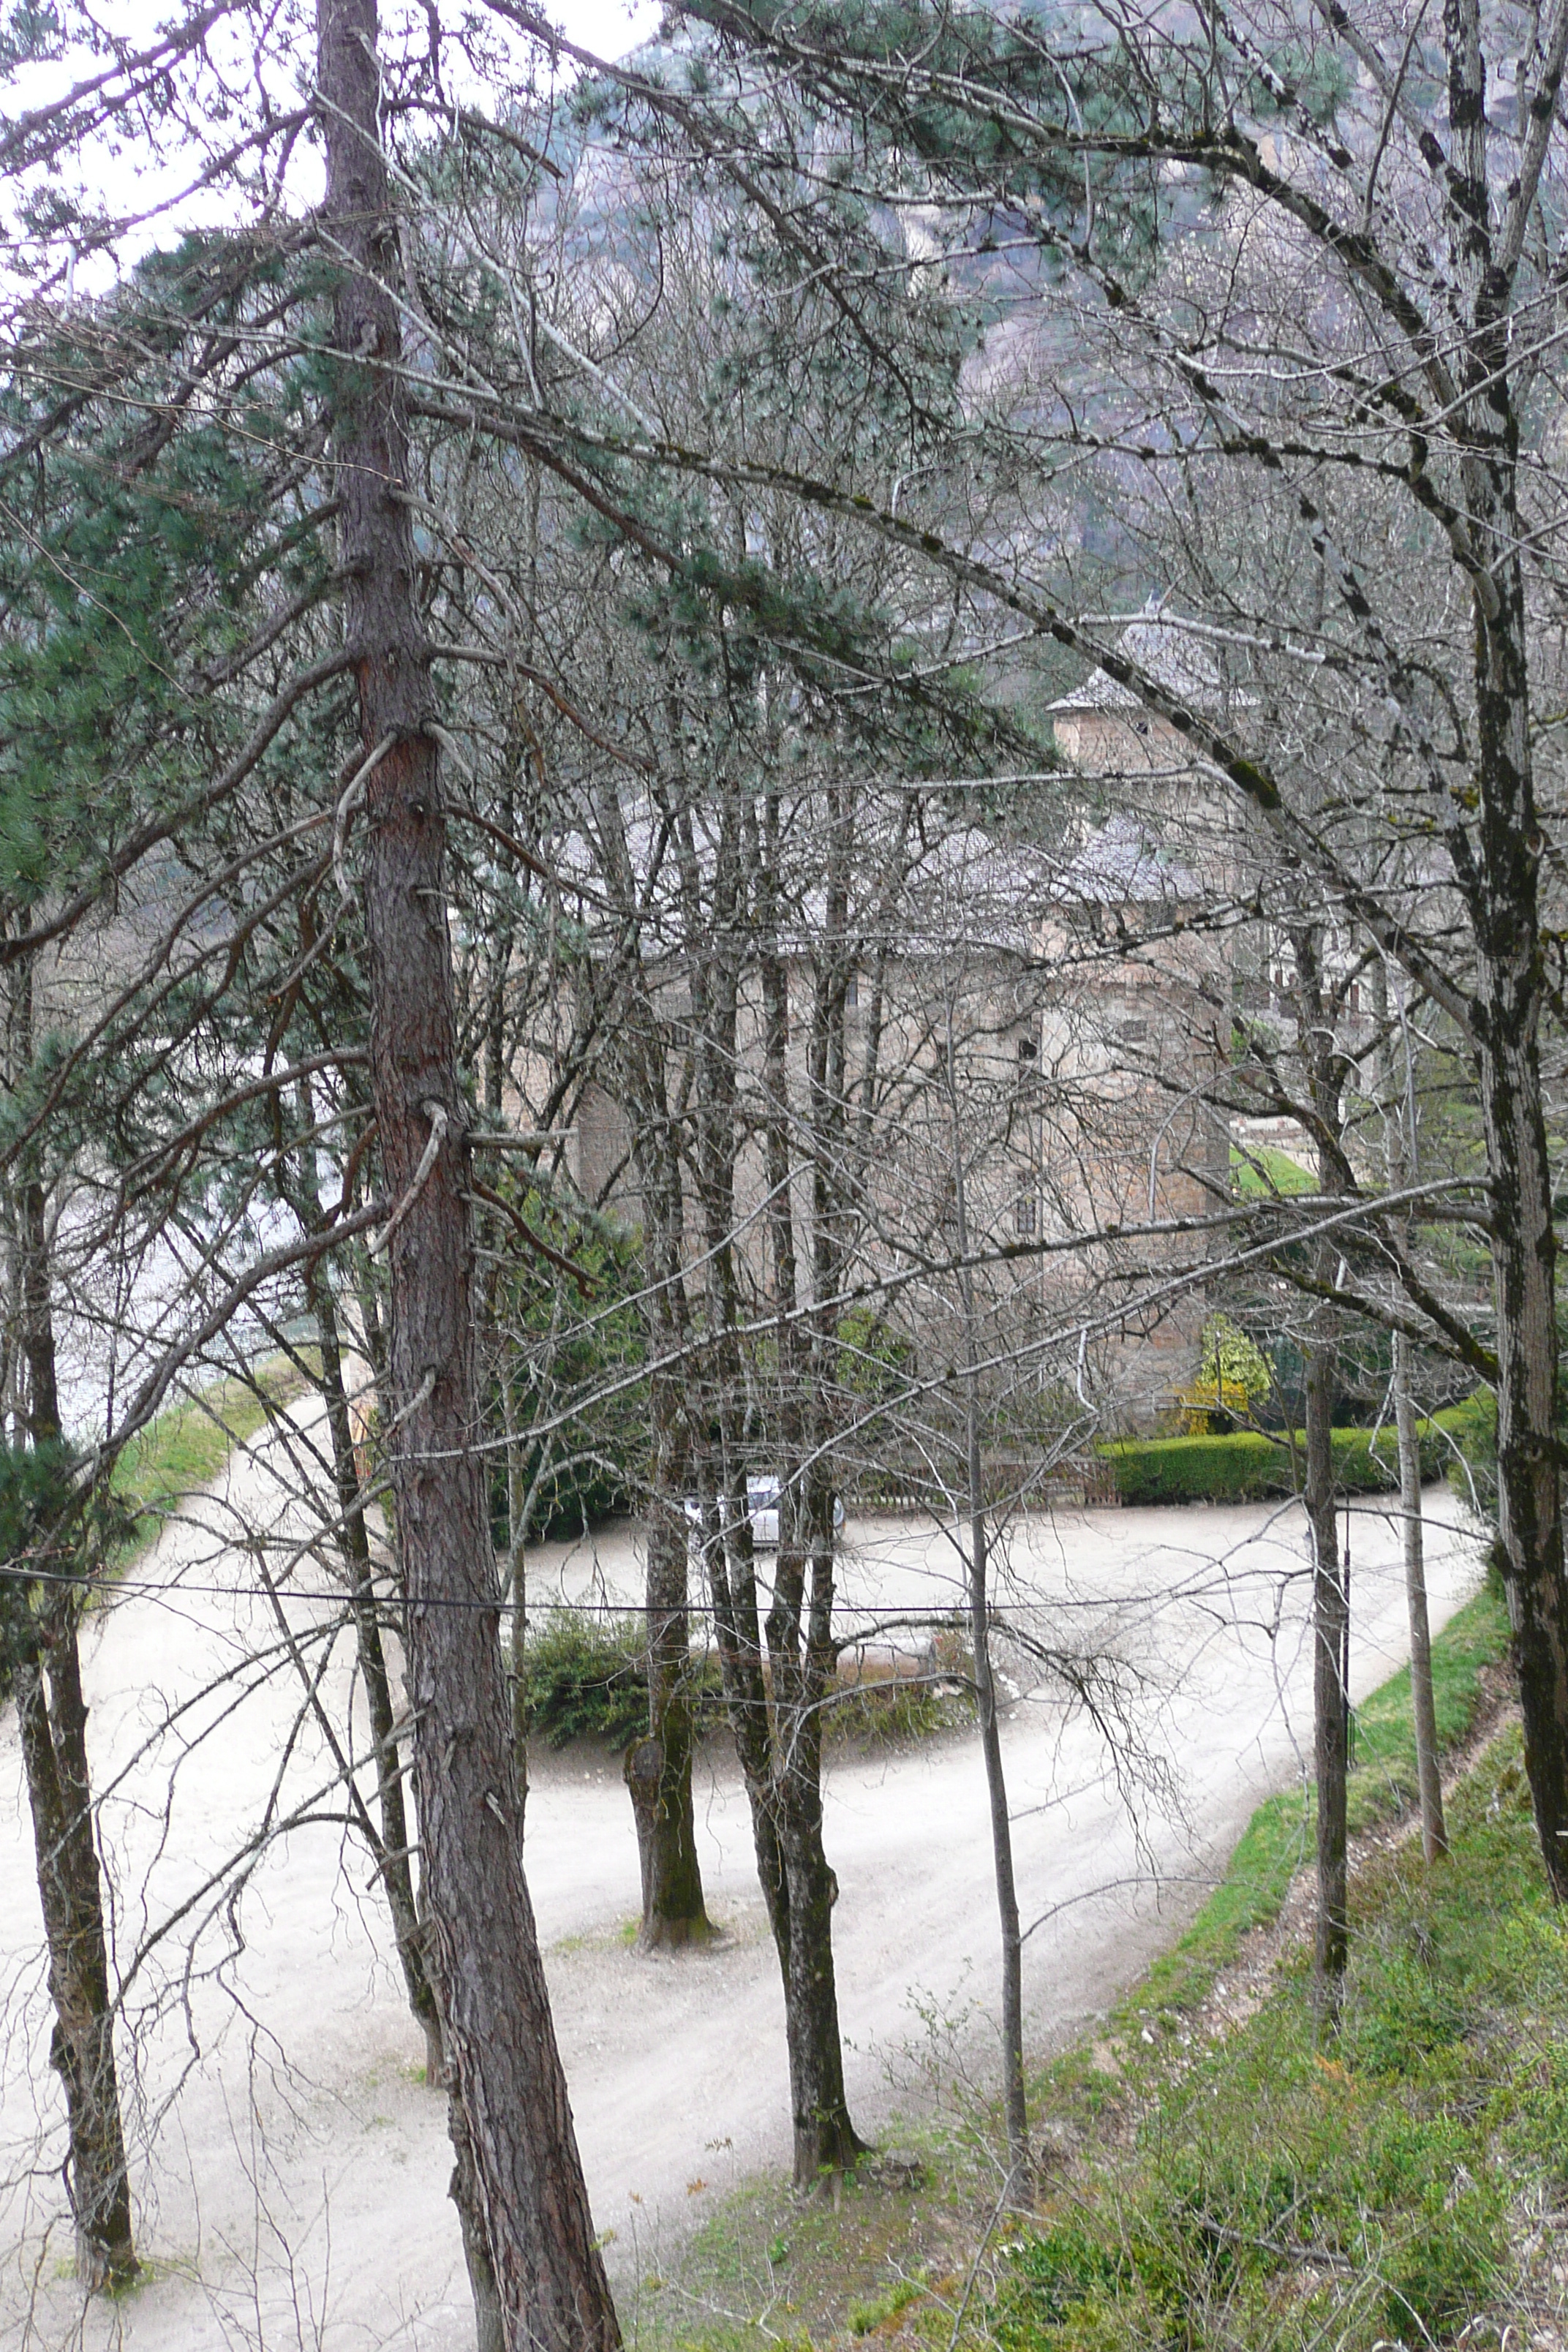
[[[1490,1592],[1439,1637],[1450,1748],[1502,1649]],[[1399,1675],[1359,1710],[1361,1825],[1394,1818],[1410,1785]],[[1300,1947],[1251,2013],[1213,1999],[1307,1853],[1302,1792],[1272,1799],[1103,2039],[1034,2077],[1048,2171],[1027,2218],[997,2216],[994,2114],[954,2091],[933,2046],[947,2096],[884,2133],[903,2161],[865,2164],[837,2204],[748,2183],[668,2265],[654,2244],[618,2249],[637,2272],[628,2333],[703,2352],[872,2336],[999,2352],[1373,2352],[1500,2345],[1509,2328],[1509,2352],[1561,2345],[1568,1931],[1547,1900],[1516,1731],[1458,1785],[1450,1830],[1432,1867],[1410,1837],[1363,1858],[1345,2020],[1324,2037]]]

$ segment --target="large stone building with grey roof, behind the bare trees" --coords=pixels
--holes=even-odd
[[[665,1094],[677,1103],[689,1101],[693,955],[712,953],[712,936],[691,931],[682,891],[693,873],[708,889],[715,847],[698,830],[682,880],[675,863],[661,863],[665,837],[646,811],[623,811],[646,913],[639,993],[658,1021]],[[778,946],[802,1232],[813,1214],[809,1040],[823,969],[837,960],[844,1016],[835,1087],[842,1148],[853,1160],[853,1279],[891,1277],[889,1324],[922,1362],[957,1362],[959,1298],[943,1268],[957,1254],[961,1181],[969,1251],[985,1258],[994,1359],[1013,1350],[1034,1378],[1056,1378],[1063,1350],[1048,1341],[1081,1322],[1086,1359],[1074,1376],[1095,1378],[1107,1421],[1152,1423],[1197,1369],[1204,1308],[1180,1277],[1201,1244],[1051,1244],[1201,1214],[1225,1195],[1227,1136],[1204,1101],[1222,1044],[1206,950],[1190,922],[1197,877],[1128,814],[1091,823],[1051,856],[964,823],[940,802],[910,818],[910,795],[889,783],[858,800],[856,849],[830,924],[804,816],[799,837]],[[588,842],[562,863],[597,870]],[[595,969],[614,953],[614,927],[599,929]],[[736,1009],[736,1221],[752,1312],[766,1315],[762,1037],[762,985],[750,967]],[[611,1049],[581,1101],[574,1176],[588,1200],[639,1221],[630,1087]],[[686,1235],[701,1254],[696,1202]],[[809,1294],[809,1251],[797,1272]],[[1152,1282],[1164,1282],[1164,1296],[1150,1305]]]

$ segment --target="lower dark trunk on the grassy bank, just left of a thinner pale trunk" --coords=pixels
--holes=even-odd
[[[1324,2027],[1340,2020],[1349,1957],[1345,1780],[1349,1693],[1345,1642],[1349,1609],[1340,1581],[1333,1503],[1333,1345],[1307,1348],[1307,1541],[1312,1548],[1312,1752],[1316,1769],[1316,1933],[1314,1983]]]

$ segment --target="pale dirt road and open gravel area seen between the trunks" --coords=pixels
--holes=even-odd
[[[242,1522],[299,1519],[299,1468],[242,1456],[228,1489],[172,1526],[87,1642],[96,1785],[129,1971],[134,2180],[143,2288],[82,2319],[68,2281],[63,2147],[47,2067],[40,1919],[16,1724],[0,1722],[0,2338],[167,2347],[423,2347],[473,2343],[447,2201],[442,2100],[388,1959],[369,1865],[343,1828],[324,1738],[301,1710],[322,1675],[350,1703],[350,1658],[322,1665],[322,1571],[306,1557],[289,1637],[256,1588]],[[1474,1588],[1479,1548],[1432,1491],[1441,1623]],[[957,1597],[954,1552],[912,1522],[849,1526],[846,1621]],[[280,1552],[270,1555],[282,1557]],[[1399,1529],[1352,1515],[1354,1682],[1403,1658]],[[534,1562],[531,1590],[635,1595],[630,1536],[597,1559]],[[1251,1806],[1300,1769],[1309,1738],[1305,1545],[1293,1510],[1126,1510],[1027,1522],[1009,1604],[1063,1646],[1114,1653],[1138,1691],[1131,1806],[1098,1733],[1048,1684],[1006,1724],[1025,1994],[1039,2049],[1103,2011],[1201,1900]],[[294,1644],[294,1656],[289,1651]],[[261,1656],[261,1663],[256,1658]],[[1023,1679],[1023,1677],[1020,1677]],[[256,1825],[237,1900],[209,1886]],[[783,2002],[755,1891],[745,1804],[722,1750],[698,1788],[708,1896],[724,1938],[679,1959],[630,1950],[637,1856],[614,1759],[536,1764],[527,1867],[595,2216],[628,2274],[741,2173],[788,2157]],[[851,2096],[863,2131],[910,2096],[945,2023],[985,2063],[994,1910],[980,1759],[954,1736],[839,1755],[827,1778],[839,1877],[835,1945]],[[181,1926],[160,1924],[183,1907]],[[153,1940],[148,1940],[153,1938]],[[80,2331],[80,2333],[78,2333]]]

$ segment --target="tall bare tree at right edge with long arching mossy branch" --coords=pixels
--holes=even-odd
[[[1319,816],[1291,731],[1267,741],[1258,710],[1208,715],[1119,652],[1088,616],[1098,600],[1053,579],[1048,560],[1020,555],[1023,517],[1009,548],[987,557],[945,534],[936,513],[917,517],[870,499],[889,541],[922,550],[957,593],[1095,661],[1168,722],[1201,774],[1300,861],[1340,920],[1361,924],[1401,964],[1474,1058],[1490,1176],[1505,1581],[1535,1823],[1563,1896],[1568,1583],[1542,1058],[1556,1023],[1542,953],[1552,807],[1537,788],[1530,717],[1533,682],[1554,663],[1556,532],[1528,407],[1547,386],[1556,400],[1552,188],[1561,174],[1568,7],[1530,19],[1523,56],[1509,64],[1502,19],[1481,0],[1458,0],[1441,26],[1415,31],[1382,14],[1316,12],[1302,54],[1345,92],[1328,111],[1276,64],[1274,16],[1253,5],[1220,9],[1213,38],[1185,19],[1107,9],[1112,31],[1086,47],[1077,33],[1060,42],[1048,16],[1001,45],[983,12],[933,9],[931,45],[912,40],[896,66],[879,52],[860,54],[853,38],[825,42],[813,21],[792,14],[731,0],[701,14],[738,52],[771,56],[839,120],[853,113],[875,125],[886,151],[867,158],[865,176],[886,195],[896,172],[905,174],[900,209],[914,200],[910,158],[924,155],[919,200],[943,223],[947,261],[1006,221],[1009,235],[1060,263],[1081,327],[1074,390],[1060,407],[1030,386],[997,440],[1016,480],[1067,442],[1103,452],[1107,477],[1180,468],[1197,489],[1234,475],[1258,515],[1269,515],[1269,532],[1309,555],[1284,609],[1255,609],[1234,569],[1229,579],[1213,569],[1199,576],[1204,626],[1251,677],[1279,684],[1281,706],[1316,680],[1347,689],[1347,729],[1368,757],[1396,762],[1408,811],[1401,833],[1427,844],[1413,894],[1389,887],[1368,851],[1363,795],[1352,795],[1349,833],[1333,814]],[[1441,92],[1434,103],[1408,73],[1418,52],[1422,87]],[[1312,89],[1321,87],[1319,75]],[[1117,96],[1103,118],[1110,125],[1114,115],[1114,129],[1081,103],[1093,94]],[[919,129],[926,106],[943,108],[947,122],[940,153],[929,153]],[[997,111],[1009,122],[1004,155],[992,143]],[[738,120],[724,115],[731,134]],[[766,151],[766,125],[748,148],[752,169],[778,160]],[[1159,172],[1178,174],[1168,186],[1182,233],[1171,245],[1173,268],[1143,273],[1150,245],[1128,223],[1138,205],[1145,223],[1159,219]],[[1037,174],[1056,202],[1037,202]],[[1128,202],[1112,202],[1114,191]],[[1213,212],[1208,191],[1225,198]],[[1295,285],[1309,289],[1309,318],[1300,306],[1281,315]],[[1258,362],[1251,376],[1232,367],[1237,341]],[[1088,393],[1088,353],[1103,395],[1093,421],[1079,397]],[[1274,383],[1272,353],[1293,381],[1312,386],[1288,414],[1248,390]],[[1004,393],[1006,372],[992,372],[990,383]],[[649,461],[736,475],[719,452],[649,452]],[[762,473],[785,487],[778,468]],[[1041,468],[1039,480],[1051,475]],[[846,485],[818,475],[792,487],[818,510],[867,515],[856,506],[865,494]],[[1413,597],[1408,567],[1385,564],[1392,529],[1432,579],[1432,602]],[[1041,534],[1032,546],[1044,557],[1060,539]],[[1324,586],[1321,619],[1302,609],[1314,583]],[[1410,626],[1422,612],[1443,623],[1436,661]],[[1479,1355],[1488,1357],[1486,1345]]]

